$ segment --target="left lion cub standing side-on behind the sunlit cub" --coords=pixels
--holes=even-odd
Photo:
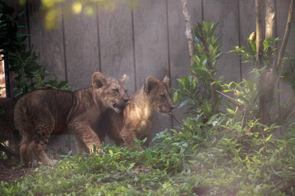
[[[124,86],[126,74],[120,80],[92,75],[92,87],[75,93],[60,90],[35,90],[20,98],[15,106],[15,128],[22,131],[25,141],[20,148],[25,166],[33,166],[34,158],[43,165],[53,166],[45,153],[50,134],[73,134],[92,150],[100,141],[92,127],[107,108],[121,112],[129,100]]]

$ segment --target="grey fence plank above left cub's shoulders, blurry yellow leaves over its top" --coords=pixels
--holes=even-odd
[[[66,76],[74,90],[91,86],[94,72],[99,72],[99,48],[96,4],[93,15],[88,16],[84,10],[81,14],[71,13],[73,1],[66,0],[62,6]],[[76,151],[72,136],[69,137],[70,148]]]

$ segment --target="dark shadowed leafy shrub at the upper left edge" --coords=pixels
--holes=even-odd
[[[17,80],[15,90],[18,90],[15,97],[20,98],[30,90],[39,88],[71,90],[68,81],[58,82],[55,74],[48,73],[46,67],[40,65],[40,54],[36,54],[33,46],[28,49],[29,46],[24,43],[29,35],[18,33],[23,26],[17,25],[23,14],[24,11],[14,16],[14,9],[0,2],[0,48],[3,49],[0,54],[4,55],[2,60],[8,60],[9,71],[17,75],[14,77]],[[48,77],[53,77],[53,80],[46,81]]]

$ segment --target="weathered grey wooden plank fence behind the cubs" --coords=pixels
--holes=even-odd
[[[189,52],[185,22],[180,0],[139,0],[139,6],[131,9],[121,4],[116,11],[103,11],[96,7],[94,16],[76,15],[66,17],[60,6],[61,21],[55,30],[44,29],[40,0],[27,0],[24,7],[19,0],[9,0],[18,12],[26,9],[26,16],[20,23],[29,33],[29,45],[41,52],[41,62],[49,72],[61,80],[67,79],[75,90],[91,85],[91,75],[100,71],[106,76],[129,76],[126,84],[132,95],[149,76],[162,79],[171,77],[172,87],[176,78],[189,73]],[[70,2],[70,1],[69,1]],[[274,36],[282,43],[288,9],[291,0],[277,0]],[[246,38],[256,29],[254,0],[188,0],[191,21],[219,22],[216,34],[222,35],[219,44],[224,56],[218,62],[220,75],[227,81],[241,81],[252,67],[243,64],[236,53],[227,53],[234,46],[246,45]],[[287,47],[295,53],[295,20]],[[291,79],[291,78],[290,78]],[[290,80],[279,84],[284,93],[278,94],[278,101],[288,101]],[[13,88],[13,85],[12,87]],[[184,118],[183,109],[175,109],[178,119]],[[178,125],[170,117],[156,115],[153,136],[165,128]],[[70,139],[64,136],[65,140]],[[64,144],[60,137],[51,140],[51,147]],[[108,141],[110,142],[110,141]],[[110,142],[112,144],[112,142]],[[59,145],[60,146],[60,145]],[[54,147],[56,148],[56,147]],[[75,149],[69,145],[66,150]]]

